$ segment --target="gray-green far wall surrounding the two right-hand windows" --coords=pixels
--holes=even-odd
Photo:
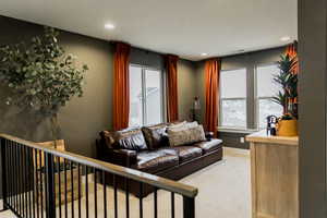
[[[247,129],[256,129],[256,118],[254,114],[256,110],[255,105],[255,66],[261,64],[268,64],[277,62],[280,59],[280,55],[284,52],[284,47],[274,48],[268,50],[242,53],[238,56],[223,57],[221,59],[221,70],[235,70],[241,68],[246,68],[247,72]],[[196,63],[196,89],[199,95],[201,102],[203,106],[205,104],[205,82],[204,82],[204,61],[199,61]],[[204,122],[205,117],[205,107],[202,107],[201,110],[201,120]],[[244,136],[245,133],[226,133],[219,132],[219,137],[221,137],[226,142],[235,143],[234,147],[247,148],[249,145],[246,143],[240,143],[240,136]],[[233,138],[234,137],[234,138]],[[226,146],[230,146],[232,143],[225,143]]]

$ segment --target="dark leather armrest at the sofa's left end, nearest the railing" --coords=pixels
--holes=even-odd
[[[102,155],[105,161],[122,167],[131,167],[137,162],[137,153],[129,149],[108,149]]]

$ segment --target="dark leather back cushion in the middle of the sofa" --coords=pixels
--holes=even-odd
[[[167,124],[165,123],[142,128],[148,149],[157,149],[168,145],[166,129]]]

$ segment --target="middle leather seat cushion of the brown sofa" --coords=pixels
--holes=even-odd
[[[195,146],[178,146],[178,147],[162,148],[160,150],[168,155],[178,155],[180,162],[185,162],[196,157],[201,157],[203,154],[202,148]]]

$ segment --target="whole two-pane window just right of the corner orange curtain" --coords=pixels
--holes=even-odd
[[[246,129],[246,70],[220,73],[220,125]]]

